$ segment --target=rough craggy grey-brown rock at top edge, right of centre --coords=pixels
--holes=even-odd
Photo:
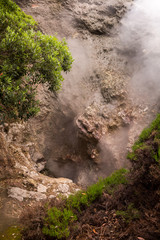
[[[110,35],[111,28],[123,16],[126,8],[124,4],[109,5],[106,1],[84,2],[76,4],[75,17],[78,27],[88,30],[92,34]]]

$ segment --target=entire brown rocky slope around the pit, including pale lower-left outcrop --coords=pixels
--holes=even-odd
[[[66,37],[75,59],[61,91],[53,94],[39,86],[37,117],[1,129],[2,195],[7,188],[17,208],[14,201],[77,189],[58,177],[88,185],[127,165],[127,148],[154,108],[135,103],[128,94],[130,53],[120,44],[119,26],[131,0],[15,2],[44,33]]]

